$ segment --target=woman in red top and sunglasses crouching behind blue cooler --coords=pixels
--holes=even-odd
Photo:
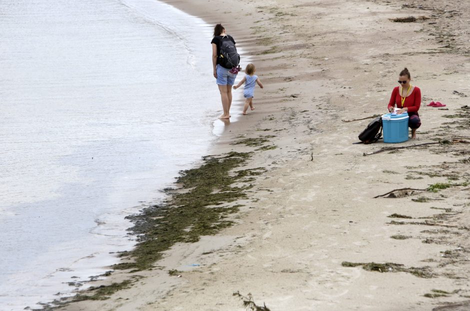
[[[398,78],[400,86],[393,88],[390,101],[388,102],[388,111],[393,112],[394,105],[400,108],[397,114],[408,112],[408,126],[411,128],[411,139],[416,138],[416,129],[421,126],[418,110],[421,105],[421,90],[419,87],[411,85],[411,75],[407,68],[401,70]]]

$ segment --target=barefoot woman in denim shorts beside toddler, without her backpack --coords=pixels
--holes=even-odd
[[[223,113],[219,118],[226,119],[230,117],[231,86],[235,83],[236,73],[231,73],[229,72],[230,69],[220,65],[220,40],[223,37],[228,37],[228,39],[235,44],[233,37],[225,33],[225,28],[221,24],[216,24],[214,27],[214,37],[210,42],[212,43],[212,65],[214,77],[216,78],[218,90],[220,91],[220,99],[222,100]]]

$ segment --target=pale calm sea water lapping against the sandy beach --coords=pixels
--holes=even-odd
[[[1,310],[103,273],[207,152],[212,29],[155,0],[0,1]]]

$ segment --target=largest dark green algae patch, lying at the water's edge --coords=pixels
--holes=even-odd
[[[251,153],[230,152],[221,157],[204,157],[198,168],[180,171],[176,183],[179,189],[167,189],[171,198],[162,204],[143,209],[139,214],[127,216],[134,226],[129,229],[137,235],[134,249],[119,256],[127,262],[115,264],[114,269],[138,271],[153,267],[162,252],[177,242],[196,242],[201,235],[213,235],[230,226],[230,214],[240,205],[220,206],[240,198],[246,198],[244,187],[230,186],[243,182],[247,175],[258,170],[238,170]]]

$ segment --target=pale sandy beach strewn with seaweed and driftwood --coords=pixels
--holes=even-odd
[[[470,3],[166,2],[221,22],[264,84],[201,162],[226,170],[193,178],[230,184],[156,262],[123,254],[126,269],[53,309],[470,309]],[[403,67],[422,92],[417,139],[354,144]],[[200,186],[190,173],[168,190],[175,205]]]

